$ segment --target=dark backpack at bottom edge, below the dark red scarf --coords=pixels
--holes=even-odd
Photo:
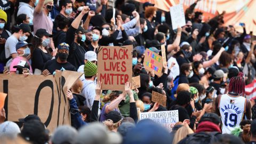
[[[186,144],[211,144],[214,142],[218,142],[217,135],[219,132],[199,132],[187,135]]]

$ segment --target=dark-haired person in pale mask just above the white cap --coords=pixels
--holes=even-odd
[[[102,29],[100,27],[94,27],[92,29],[92,43],[88,45],[88,50],[89,51],[94,51],[96,53],[98,50],[99,45],[99,40],[102,37]]]

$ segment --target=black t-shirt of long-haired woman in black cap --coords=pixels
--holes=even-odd
[[[45,63],[51,59],[52,55],[50,53],[45,53],[36,47],[31,58],[33,71],[35,69],[43,70]]]

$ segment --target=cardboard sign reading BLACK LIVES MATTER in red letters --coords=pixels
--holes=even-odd
[[[98,51],[98,78],[102,90],[124,90],[132,82],[132,45],[101,46]]]

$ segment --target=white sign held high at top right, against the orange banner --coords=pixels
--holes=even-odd
[[[185,14],[182,4],[170,7],[172,29],[177,29],[186,25]]]

